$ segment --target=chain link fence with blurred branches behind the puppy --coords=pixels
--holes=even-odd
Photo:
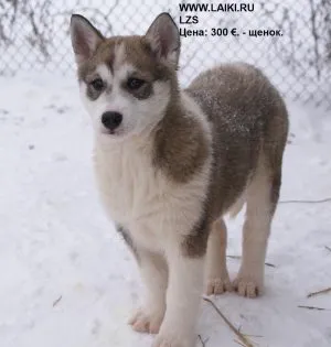
[[[143,34],[167,11],[181,29],[183,86],[215,64],[245,61],[265,71],[286,97],[331,109],[331,1],[232,3],[0,0],[0,74],[74,73],[72,13],[85,15],[105,35],[129,35]]]

